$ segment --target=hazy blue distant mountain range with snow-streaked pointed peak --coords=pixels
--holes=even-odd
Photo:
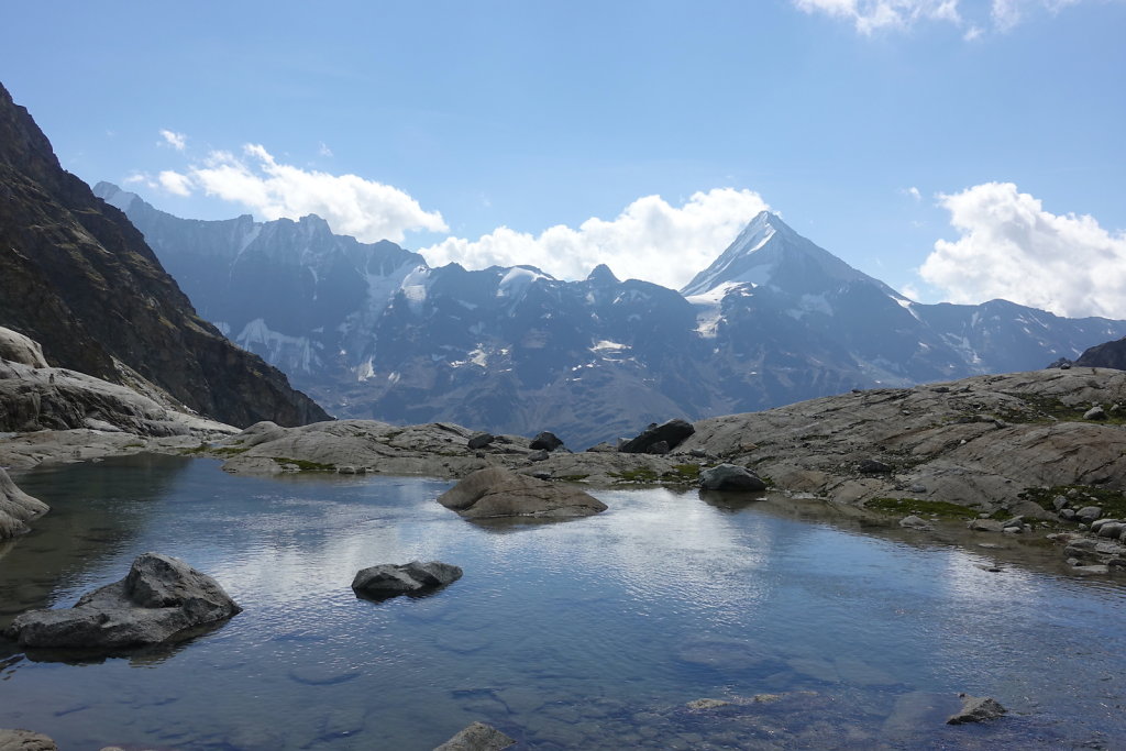
[[[549,429],[581,447],[672,417],[1035,369],[1126,336],[1124,321],[1004,301],[912,302],[767,212],[676,292],[605,266],[575,281],[526,266],[431,268],[316,217],[198,222],[109,184],[96,191],[184,269],[216,325],[340,417]],[[274,280],[285,294],[269,294]],[[323,296],[332,304],[301,320],[295,309]]]

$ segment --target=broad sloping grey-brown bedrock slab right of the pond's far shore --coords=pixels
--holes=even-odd
[[[1126,490],[1126,431],[1083,419],[1123,394],[1126,373],[1090,368],[877,388],[700,420],[673,456],[703,450],[843,504],[912,498],[1028,517],[1044,511],[1030,489]],[[887,471],[863,471],[869,459]]]

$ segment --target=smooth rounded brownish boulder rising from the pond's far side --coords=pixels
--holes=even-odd
[[[479,470],[438,497],[467,519],[589,517],[606,504],[578,488],[519,475],[501,467]]]

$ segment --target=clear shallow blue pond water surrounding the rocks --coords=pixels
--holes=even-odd
[[[536,749],[1116,748],[1126,590],[912,545],[770,503],[598,492],[610,510],[482,527],[449,483],[225,475],[137,457],[18,479],[53,506],[0,547],[0,626],[69,607],[157,551],[245,608],[99,663],[0,647],[0,726],[63,749],[431,749],[468,723]],[[462,580],[358,600],[355,572]],[[957,691],[1011,715],[949,727]],[[769,700],[753,700],[763,694]],[[691,712],[701,697],[734,700]],[[1120,746],[1119,746],[1120,748]]]

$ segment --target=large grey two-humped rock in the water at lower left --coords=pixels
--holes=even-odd
[[[241,610],[207,574],[179,558],[144,553],[125,579],[83,594],[73,608],[17,616],[5,636],[25,647],[117,650],[177,641],[187,629]]]

